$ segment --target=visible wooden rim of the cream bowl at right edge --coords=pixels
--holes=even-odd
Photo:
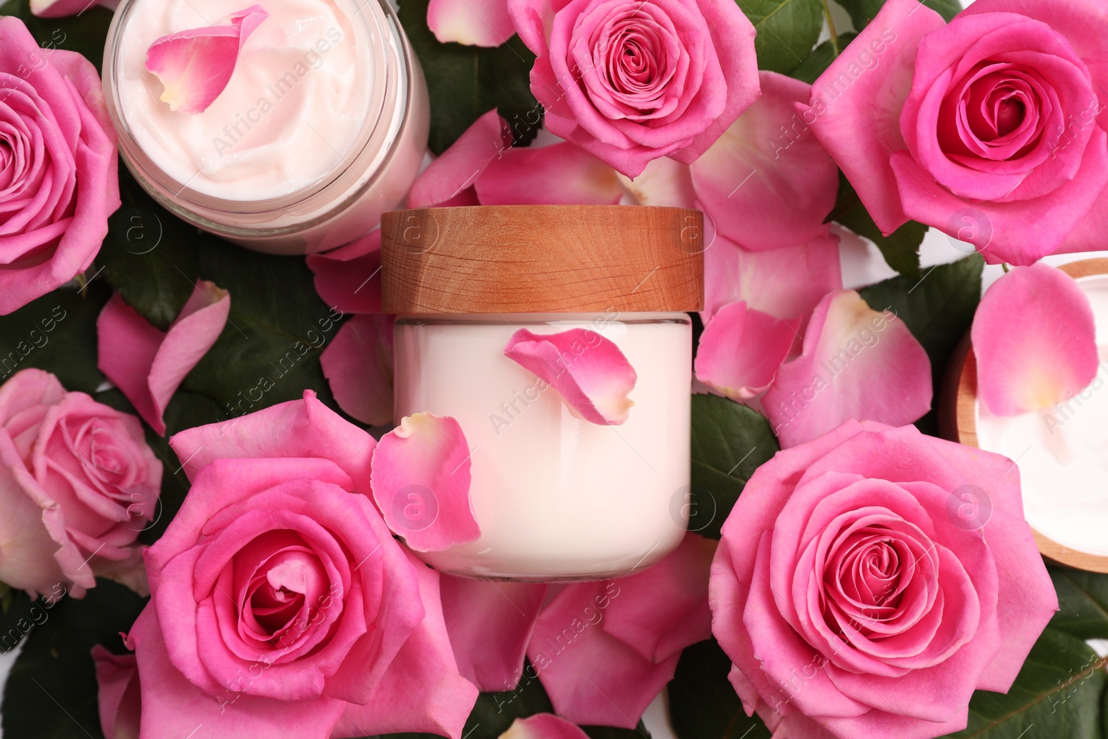
[[[1070,264],[1059,266],[1059,269],[1074,279],[1078,279],[1080,277],[1091,277],[1094,275],[1108,275],[1108,259],[1085,259],[1083,261],[1073,261]],[[951,377],[951,373],[955,373],[956,378]],[[944,383],[945,398],[940,402],[941,408],[951,408],[951,403],[948,402],[951,400],[948,398],[948,391],[951,388],[956,388],[957,394],[953,402],[953,414],[947,414],[945,418],[941,419],[940,424],[943,435],[947,439],[966,444],[967,447],[978,447],[976,415],[977,360],[974,358],[973,346],[970,342],[968,332],[965,337],[963,337],[962,342],[955,350],[955,355],[952,358],[948,370],[947,380],[948,381]],[[1059,564],[1076,567],[1077,569],[1108,574],[1108,556],[1071,550],[1068,546],[1064,546],[1053,538],[1039,533],[1034,526],[1032,526],[1032,533],[1035,534],[1035,543],[1038,545],[1039,553],[1043,556]]]

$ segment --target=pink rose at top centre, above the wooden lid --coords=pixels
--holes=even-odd
[[[545,125],[628,177],[691,164],[758,99],[755,29],[731,0],[509,0],[538,57]]]

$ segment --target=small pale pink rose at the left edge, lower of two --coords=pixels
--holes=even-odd
[[[144,594],[135,540],[161,487],[134,415],[38,369],[0,386],[0,581],[82,597],[103,576]]]

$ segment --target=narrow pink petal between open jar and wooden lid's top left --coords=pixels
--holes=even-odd
[[[408,207],[476,205],[473,184],[511,145],[512,131],[494,107],[474,121],[416,178],[408,193]]]

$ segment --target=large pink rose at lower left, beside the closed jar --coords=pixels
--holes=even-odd
[[[130,633],[142,736],[459,739],[478,691],[368,495],[372,437],[306,391],[171,444],[193,485]]]

